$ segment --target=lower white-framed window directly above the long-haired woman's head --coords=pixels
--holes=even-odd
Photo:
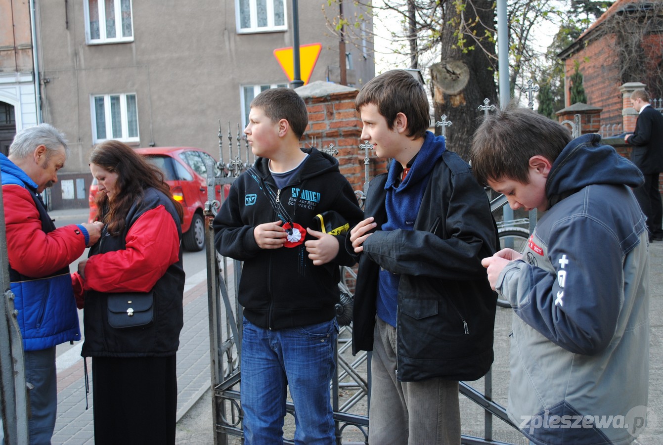
[[[135,94],[91,96],[92,139],[138,142],[138,107]]]

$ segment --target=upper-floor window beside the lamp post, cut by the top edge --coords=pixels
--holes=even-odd
[[[237,32],[286,31],[284,0],[235,0]]]

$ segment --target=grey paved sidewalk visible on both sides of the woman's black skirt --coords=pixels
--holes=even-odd
[[[206,271],[202,271],[188,278],[184,287],[184,327],[177,353],[178,421],[210,389],[209,329],[207,275]],[[89,409],[86,410],[81,345],[82,342],[78,342],[74,348],[58,357],[58,363],[65,361],[68,366],[66,369],[58,367],[58,419],[52,438],[54,445],[94,443],[91,361],[88,359],[90,394],[87,403]],[[74,355],[78,355],[78,359]]]

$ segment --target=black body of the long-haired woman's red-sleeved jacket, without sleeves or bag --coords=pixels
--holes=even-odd
[[[148,210],[163,205],[176,222],[182,238],[180,218],[167,196],[154,188],[145,190],[143,200],[137,201],[125,218],[121,235],[107,235],[105,230],[98,243],[90,248],[90,257],[125,249],[129,228]],[[184,269],[182,247],[179,260],[170,265],[156,281],[154,292],[154,321],[140,328],[115,329],[108,324],[107,297],[103,292],[88,290],[85,299],[85,342],[83,357],[165,357],[174,355],[180,345],[180,331],[184,324],[182,298],[184,296]]]

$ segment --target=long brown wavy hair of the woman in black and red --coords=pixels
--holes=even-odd
[[[95,198],[97,219],[106,224],[111,235],[119,235],[125,229],[125,218],[129,209],[135,202],[143,199],[146,188],[156,188],[168,196],[182,222],[182,205],[172,198],[164,174],[128,145],[114,140],[103,141],[92,149],[90,163],[117,173],[117,192],[112,204],[105,193],[99,193]]]

